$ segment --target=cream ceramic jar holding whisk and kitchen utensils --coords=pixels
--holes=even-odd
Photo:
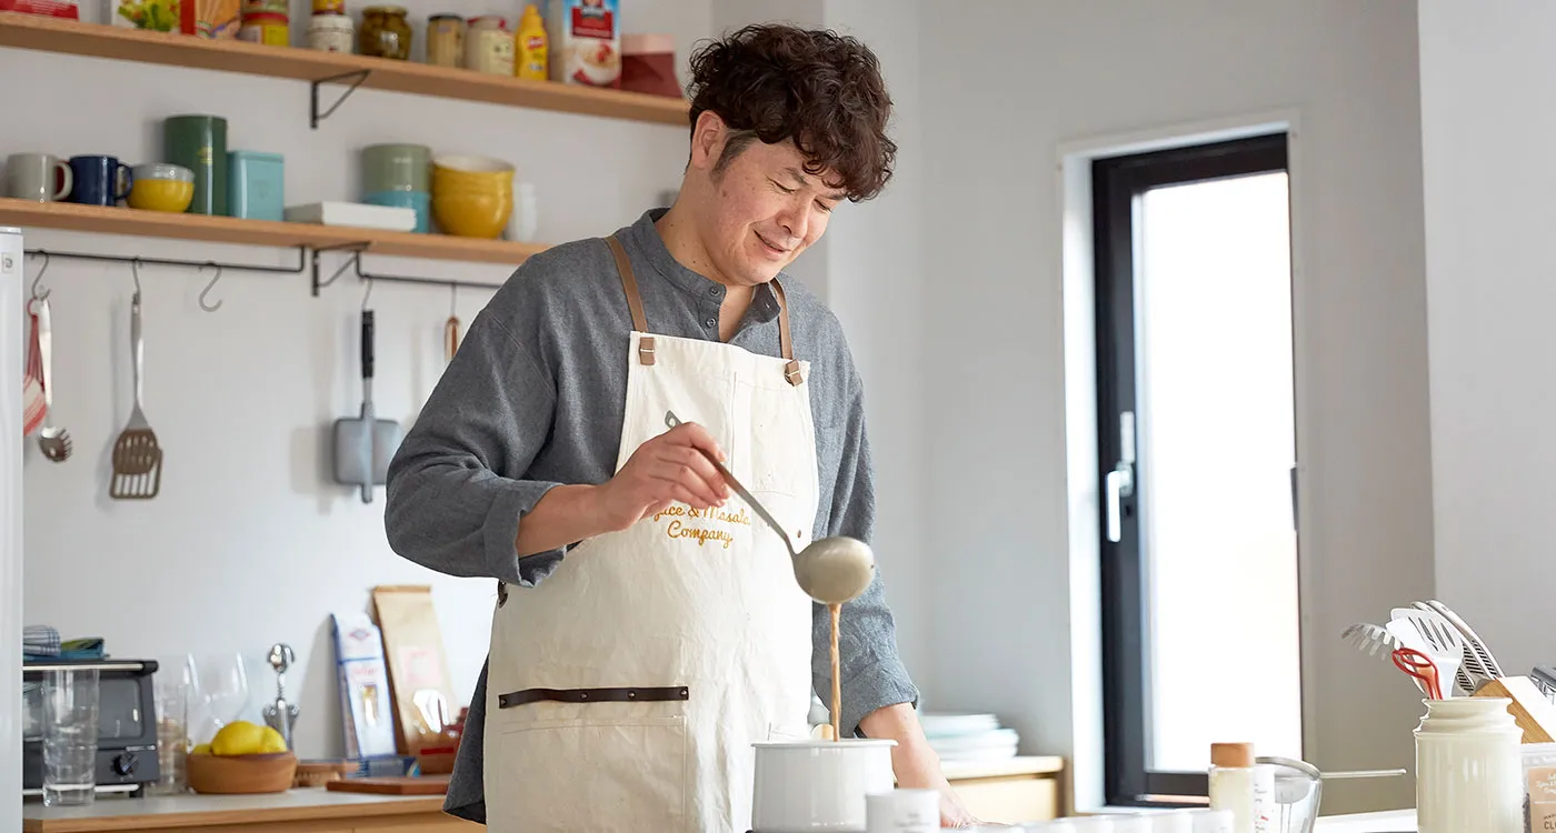
[[[1416,727],[1419,833],[1522,833],[1523,730],[1506,698],[1428,699]]]

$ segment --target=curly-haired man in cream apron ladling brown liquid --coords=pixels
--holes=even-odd
[[[868,541],[860,381],[781,270],[885,186],[890,98],[862,44],[792,26],[691,68],[675,204],[526,261],[389,469],[395,552],[498,580],[445,805],[492,830],[748,830],[752,744],[806,737],[811,692],[831,692],[826,609],[708,455],[797,545]],[[842,730],[895,740],[899,785],[972,824],[879,575],[843,606],[840,653]]]

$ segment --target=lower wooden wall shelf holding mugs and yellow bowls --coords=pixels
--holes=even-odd
[[[263,219],[216,218],[205,214],[173,214],[138,208],[109,208],[73,202],[30,202],[0,197],[0,225],[59,228],[98,235],[131,235],[140,238],[185,239],[202,242],[233,242],[274,246],[280,249],[307,246],[328,249],[366,242],[364,252],[405,258],[428,258],[467,263],[499,263],[518,266],[545,244],[503,239],[456,238],[451,235],[415,235],[380,232],[344,225],[313,225],[303,222],[271,222]]]

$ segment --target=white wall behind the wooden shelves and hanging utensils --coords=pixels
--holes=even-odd
[[[90,6],[90,5],[89,5]],[[302,5],[294,3],[302,8]],[[443,6],[408,3],[412,17]],[[464,9],[512,12],[482,0]],[[680,61],[706,37],[708,3],[635,0],[630,31],[672,31]],[[420,34],[420,30],[419,30]],[[45,151],[149,160],[159,121],[213,112],[230,123],[230,148],[282,152],[288,204],[352,199],[355,149],[422,141],[440,152],[515,162],[537,183],[540,236],[562,241],[629,224],[680,183],[686,134],[587,117],[355,93],[319,131],[308,129],[308,89],[289,81],[0,50],[0,75],[45,79],[0,85],[6,129],[0,157]],[[61,101],[70,103],[62,107]],[[235,263],[285,263],[286,252],[209,247],[28,230],[28,247]],[[37,261],[28,261],[33,275]],[[369,270],[501,281],[510,269],[367,258]],[[25,605],[30,623],[103,636],[117,656],[244,651],[255,707],[274,693],[263,665],[288,642],[305,667],[288,674],[302,701],[297,746],[339,754],[339,707],[328,614],[363,609],[381,583],[431,583],[456,688],[467,698],[487,648],[490,583],[454,580],[395,556],[384,542],[383,490],[372,505],[328,482],[328,426],[355,415],[363,286],[342,278],[322,297],[305,275],[229,272],[196,305],[210,274],[142,270],[146,328],[145,409],[165,449],[162,493],[151,502],[107,499],[109,449],[129,412],[126,266],[56,260],[56,415],[76,454],[64,465],[25,449]],[[485,292],[462,292],[468,326]],[[381,416],[414,420],[442,368],[450,295],[380,284],[375,399]],[[8,305],[8,308],[14,308]],[[12,333],[8,320],[5,333]],[[5,353],[0,353],[3,357]],[[8,637],[6,645],[14,639]]]

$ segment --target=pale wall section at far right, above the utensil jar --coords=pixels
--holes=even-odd
[[[1556,659],[1553,33],[1536,0],[1421,5],[1436,581],[1509,674]]]

